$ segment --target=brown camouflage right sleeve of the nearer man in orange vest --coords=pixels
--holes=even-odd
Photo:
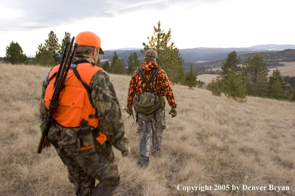
[[[90,102],[97,109],[100,126],[108,141],[120,151],[129,150],[119,101],[108,74],[100,70],[90,82]]]

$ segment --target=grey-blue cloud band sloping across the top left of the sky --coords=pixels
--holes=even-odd
[[[197,6],[222,0],[4,0],[0,2],[0,31],[34,30],[74,23],[85,18],[116,17],[138,10]],[[5,18],[5,19],[4,19]]]

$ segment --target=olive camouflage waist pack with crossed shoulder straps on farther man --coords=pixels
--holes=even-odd
[[[155,115],[155,113],[161,108],[159,97],[156,94],[154,94],[154,92],[150,88],[151,82],[153,81],[160,69],[162,68],[157,67],[151,72],[148,82],[145,77],[145,74],[143,73],[142,68],[139,67],[137,69],[140,77],[146,84],[146,87],[144,88],[143,92],[135,96],[133,100],[135,111],[137,111],[138,113]],[[147,90],[149,91],[149,93],[146,93]]]

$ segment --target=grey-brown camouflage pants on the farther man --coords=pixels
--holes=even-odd
[[[139,134],[139,156],[142,164],[146,165],[148,164],[150,156],[150,132],[152,132],[152,152],[155,155],[159,155],[161,153],[163,131],[166,128],[165,109],[159,109],[156,112],[155,118],[154,114],[138,113],[138,126],[137,133]]]

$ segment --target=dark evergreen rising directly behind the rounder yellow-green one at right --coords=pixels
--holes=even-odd
[[[236,51],[231,51],[227,54],[227,58],[225,63],[222,62],[223,66],[221,67],[221,76],[222,78],[226,78],[228,75],[229,70],[234,70],[235,72],[240,71],[240,66],[238,64],[241,62],[240,57],[236,57],[237,55]]]

